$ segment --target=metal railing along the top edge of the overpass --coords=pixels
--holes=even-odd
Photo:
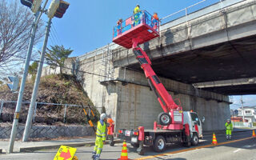
[[[209,14],[216,10],[222,10],[226,6],[234,5],[238,2],[243,2],[245,0],[202,0],[195,3],[194,5],[187,6],[182,10],[178,10],[173,14],[169,14],[164,18],[161,18],[162,25],[175,20],[181,19],[179,23],[189,21],[193,18],[198,18],[202,15]],[[193,15],[192,15],[193,14]],[[178,22],[176,22],[178,24]],[[175,23],[175,24],[176,24]]]

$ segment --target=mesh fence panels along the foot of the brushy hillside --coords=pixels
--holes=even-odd
[[[0,121],[13,122],[17,102],[5,100],[1,100],[0,102]],[[29,106],[30,102],[22,102],[19,118],[20,123],[26,122]],[[97,122],[99,114],[96,107],[47,102],[35,103],[33,122],[46,125],[65,125],[66,123],[87,125],[88,119],[83,109],[86,110],[93,122]],[[91,114],[92,112],[95,114],[95,117]]]

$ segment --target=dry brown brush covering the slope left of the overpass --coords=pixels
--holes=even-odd
[[[31,94],[34,88],[34,82],[26,82],[26,88],[23,95],[23,102],[30,102]],[[6,86],[0,86],[0,99],[5,101],[17,101],[18,93],[12,93]],[[94,108],[90,98],[82,90],[80,83],[72,75],[58,74],[48,75],[41,78],[38,90],[37,102],[75,104],[88,106],[90,105],[98,120],[98,111]],[[16,103],[4,103],[1,122],[12,122]],[[19,122],[26,122],[26,115],[29,104],[22,104]],[[39,105],[36,110],[35,123],[46,125],[65,125],[79,124],[87,125],[87,119],[82,107],[68,106],[66,110],[66,123],[63,123],[64,106]],[[87,109],[87,111],[89,111]]]

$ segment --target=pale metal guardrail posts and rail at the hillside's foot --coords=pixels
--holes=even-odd
[[[2,116],[2,109],[3,109],[3,105],[4,103],[17,103],[17,101],[5,101],[5,100],[0,100],[1,102],[1,106],[0,106],[0,118]],[[30,102],[22,102],[22,104],[30,104]],[[36,116],[36,110],[37,110],[37,106],[38,104],[40,105],[52,105],[52,106],[65,106],[64,109],[64,114],[63,114],[63,122],[66,122],[66,108],[68,106],[75,106],[75,107],[85,107],[85,108],[89,108],[89,106],[79,106],[79,105],[74,105],[74,104],[59,104],[59,103],[47,103],[47,102],[35,102],[35,106],[34,106],[34,116],[33,116],[33,122],[34,122],[34,118]],[[95,108],[101,108],[101,107],[95,107]],[[90,113],[90,111],[88,112]]]

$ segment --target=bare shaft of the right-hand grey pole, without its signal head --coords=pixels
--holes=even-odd
[[[35,101],[37,99],[38,86],[39,86],[39,82],[40,82],[40,78],[41,78],[41,74],[42,74],[42,65],[44,62],[45,54],[46,54],[46,46],[47,46],[49,32],[50,32],[50,24],[51,24],[51,18],[49,18],[48,25],[46,26],[45,40],[44,40],[43,46],[42,46],[42,53],[41,53],[40,62],[39,62],[39,66],[38,66],[38,73],[37,73],[37,77],[34,82],[34,90],[33,90],[33,94],[32,94],[31,101],[30,101],[29,113],[26,118],[26,126],[25,126],[25,130],[23,133],[22,142],[26,142],[30,135],[31,122],[32,122],[33,114],[34,114],[34,105],[35,105]]]

